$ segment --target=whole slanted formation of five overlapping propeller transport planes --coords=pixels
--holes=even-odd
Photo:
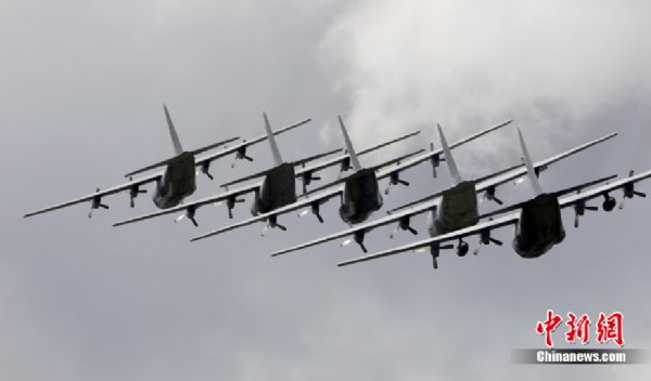
[[[534,161],[522,131],[516,129],[522,162],[482,178],[467,179],[462,176],[463,171],[457,166],[452,150],[510,126],[512,119],[477,131],[451,144],[448,143],[443,128],[437,126],[436,132],[441,148],[435,148],[434,144],[431,144],[430,149],[408,152],[383,162],[369,165],[366,157],[368,154],[414,137],[420,134],[420,131],[403,134],[365,149],[357,149],[348,136],[343,118],[340,116],[339,127],[343,140],[341,148],[288,161],[286,154],[281,155],[278,139],[291,130],[307,124],[310,119],[272,130],[267,115],[263,113],[265,133],[260,136],[251,140],[241,140],[240,136],[230,137],[205,147],[184,150],[167,106],[164,105],[163,108],[175,156],[127,173],[128,182],[126,183],[103,190],[98,188],[92,194],[36,210],[26,213],[24,216],[28,218],[73,205],[89,202],[88,216],[91,218],[93,210],[108,209],[103,200],[118,193],[127,193],[130,207],[133,208],[138,195],[148,192],[142,188],[143,185],[154,183],[152,200],[158,210],[116,222],[114,226],[131,224],[166,214],[178,214],[175,222],[187,219],[194,226],[199,226],[197,211],[200,208],[225,205],[229,219],[233,219],[235,206],[245,202],[245,196],[253,196],[251,203],[252,216],[250,219],[191,238],[191,241],[196,241],[255,223],[264,223],[263,236],[272,228],[286,231],[288,227],[280,223],[279,218],[296,211],[299,211],[298,216],[311,213],[320,223],[324,223],[320,213],[321,207],[335,198],[340,200],[339,215],[348,225],[348,228],[278,250],[271,255],[286,255],[301,252],[312,246],[343,239],[340,246],[347,246],[354,241],[359,246],[363,255],[340,262],[339,266],[414,251],[429,252],[433,267],[437,268],[438,257],[442,251],[455,250],[459,257],[467,255],[470,252],[469,237],[476,236],[478,238],[478,244],[472,251],[475,255],[478,254],[482,246],[502,246],[503,242],[495,238],[493,232],[507,226],[514,228],[513,250],[522,258],[538,258],[553,246],[561,244],[565,238],[561,216],[563,209],[571,208],[574,210],[574,226],[578,227],[579,219],[586,211],[597,211],[599,209],[597,206],[588,205],[589,201],[602,198],[602,209],[610,212],[617,206],[617,200],[612,194],[621,190],[620,209],[623,209],[624,201],[627,198],[646,197],[644,193],[636,189],[636,185],[638,182],[651,178],[651,170],[648,170],[638,174],[630,171],[627,178],[616,181],[616,175],[608,175],[557,190],[548,189],[547,186],[541,184],[540,172],[548,170],[561,160],[615,137],[616,132],[583,143],[546,159]],[[205,174],[209,180],[215,179],[209,171],[214,161],[231,155],[234,155],[231,168],[234,167],[238,160],[253,161],[254,159],[247,154],[247,148],[265,140],[271,150],[272,167],[241,179],[225,182],[220,185],[224,190],[214,196],[191,201],[186,200],[196,190],[195,176],[199,173]],[[229,144],[234,145],[228,146]],[[208,154],[208,152],[213,153]],[[442,163],[447,166],[451,179],[449,187],[443,190],[433,190],[426,197],[407,202],[387,211],[385,216],[371,220],[372,214],[382,209],[384,197],[390,195],[392,187],[410,185],[400,175],[408,169],[426,162],[432,166],[433,178],[437,178],[437,169]],[[322,181],[317,175],[320,171],[337,166],[340,174],[335,179],[318,187],[308,188],[312,182]],[[133,175],[141,175],[145,172],[149,174],[133,179]],[[520,183],[525,179],[528,180],[532,187],[532,198],[505,207],[505,202],[496,194],[497,188],[510,182]],[[381,181],[386,182],[384,188],[380,186]],[[297,182],[302,183],[299,187],[297,187]],[[241,185],[242,183],[245,184]],[[239,187],[234,187],[235,185]],[[297,188],[302,192],[297,192]],[[494,201],[500,208],[482,213],[481,206],[484,201]],[[409,232],[414,236],[418,235],[419,232],[411,225],[411,220],[420,214],[426,215],[423,231],[426,232],[427,238],[388,250],[374,253],[368,252],[365,238],[379,227],[395,224],[390,238],[394,238],[401,231]]]

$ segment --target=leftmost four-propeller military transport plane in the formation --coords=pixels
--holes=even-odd
[[[242,143],[235,144],[229,148],[224,148],[214,154],[195,159],[195,156],[199,154],[202,154],[202,153],[209,150],[212,148],[215,148],[217,146],[234,142],[234,141],[239,140],[240,137],[232,137],[232,139],[219,142],[219,143],[210,144],[208,146],[205,146],[205,147],[202,147],[199,149],[194,149],[194,150],[189,150],[189,152],[183,150],[183,148],[181,147],[181,142],[179,141],[179,136],[176,132],[176,129],[175,129],[171,118],[169,116],[169,111],[167,110],[167,106],[163,105],[163,109],[165,110],[165,118],[167,119],[167,127],[169,128],[169,135],[171,137],[171,143],[174,145],[174,150],[175,150],[176,156],[174,156],[170,159],[159,161],[155,165],[148,166],[148,167],[144,167],[137,171],[127,173],[126,176],[129,178],[128,183],[113,186],[113,187],[110,187],[104,190],[100,190],[100,188],[98,188],[97,192],[93,194],[90,194],[90,195],[87,195],[84,197],[79,197],[79,198],[76,198],[71,201],[58,203],[58,205],[49,207],[49,208],[29,212],[29,213],[25,214],[24,216],[27,218],[27,216],[49,212],[52,210],[69,207],[72,205],[90,201],[90,212],[88,213],[88,216],[90,218],[90,216],[92,216],[93,209],[98,209],[98,208],[108,209],[108,206],[102,203],[103,197],[113,195],[113,194],[116,194],[119,192],[124,192],[124,190],[129,192],[130,205],[131,205],[131,208],[133,208],[136,197],[139,194],[146,193],[145,189],[141,189],[140,187],[144,184],[152,183],[152,182],[156,183],[156,188],[155,188],[155,193],[153,196],[154,205],[159,209],[173,208],[173,207],[179,205],[183,200],[183,198],[188,197],[189,195],[194,193],[194,190],[196,189],[195,175],[197,173],[197,170],[195,170],[195,167],[199,168],[199,171],[201,171],[206,176],[208,176],[210,180],[213,180],[213,175],[209,172],[210,162],[213,160],[225,157],[227,155],[235,154],[235,160],[246,159],[248,161],[253,161],[253,158],[251,158],[248,155],[246,155],[246,148],[250,147],[251,145],[254,145],[254,144],[259,143],[259,142],[264,141],[265,139],[267,139],[267,134],[265,134],[265,135],[258,136],[256,139],[253,139],[251,141],[243,141]],[[303,121],[299,121],[298,123],[284,127],[282,129],[275,131],[273,135],[281,134],[283,132],[293,130],[293,129],[295,129],[299,126],[303,126],[309,121],[310,121],[310,119],[305,119]],[[331,154],[334,154],[336,152],[339,152],[339,150],[334,150]],[[233,167],[233,165],[231,165],[231,167]],[[151,169],[155,169],[158,167],[165,167],[165,171],[153,173],[153,174],[150,174],[150,175],[146,175],[146,176],[143,176],[140,179],[135,179],[135,180],[131,178],[133,174],[149,171]]]

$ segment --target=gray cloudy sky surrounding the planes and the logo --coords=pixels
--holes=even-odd
[[[285,234],[261,238],[260,224],[196,244],[188,238],[229,223],[224,208],[200,210],[200,228],[174,216],[111,227],[153,210],[150,195],[135,210],[127,195],[111,197],[92,221],[87,206],[21,219],[170,156],[163,102],[186,148],[256,136],[261,110],[276,127],[314,119],[279,139],[289,160],[341,146],[337,114],[360,147],[423,130],[384,155],[426,147],[436,122],[457,140],[514,118],[535,159],[620,132],[545,172],[546,189],[649,169],[648,2],[5,0],[1,10],[3,379],[649,379],[648,366],[510,364],[511,349],[542,345],[534,327],[550,307],[593,319],[622,311],[626,347],[651,347],[648,200],[588,215],[578,231],[565,214],[567,238],[537,260],[492,247],[444,254],[436,272],[423,254],[336,268],[358,254],[336,242],[268,257],[344,228],[336,202],[323,225],[290,214]],[[508,128],[458,149],[462,174],[518,162],[515,143]],[[213,172],[270,163],[266,145],[252,155]],[[412,186],[386,207],[447,187],[441,172],[406,172]],[[218,190],[199,186],[195,197]],[[498,192],[532,194],[526,183]],[[392,228],[367,245],[412,239],[391,241]]]

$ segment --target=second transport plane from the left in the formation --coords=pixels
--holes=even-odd
[[[270,131],[269,122],[267,120],[266,115],[264,116],[264,118],[265,118],[265,127],[266,127],[267,131]],[[420,131],[410,132],[408,134],[405,134],[403,136],[394,139],[392,141],[384,142],[379,145],[367,148],[367,149],[365,149],[365,153],[367,153],[367,154],[371,153],[375,149],[385,147],[388,144],[399,142],[407,137],[414,136],[419,133],[420,133]],[[345,171],[346,162],[348,162],[350,160],[350,156],[348,154],[346,154],[346,155],[342,155],[340,157],[333,158],[331,160],[328,160],[326,162],[318,163],[314,167],[306,168],[305,167],[306,162],[321,158],[324,155],[317,155],[317,156],[312,156],[308,159],[303,159],[303,160],[294,161],[294,162],[284,162],[280,156],[280,150],[278,149],[278,145],[276,144],[276,140],[272,139],[271,135],[269,136],[269,145],[271,147],[271,153],[273,156],[276,167],[273,167],[269,170],[263,171],[263,172],[258,172],[258,173],[255,173],[255,174],[242,178],[242,179],[231,181],[229,183],[224,184],[222,186],[227,187],[227,189],[228,189],[228,186],[230,186],[230,185],[233,185],[237,183],[242,183],[242,182],[245,182],[248,180],[263,178],[261,181],[252,183],[250,185],[243,186],[238,189],[228,190],[224,194],[203,198],[203,199],[200,199],[200,200],[196,200],[193,202],[187,202],[187,203],[181,205],[176,208],[170,208],[167,210],[149,213],[149,214],[136,216],[132,219],[128,219],[125,221],[120,221],[120,222],[115,223],[114,226],[125,225],[128,223],[142,221],[142,220],[146,220],[146,219],[152,219],[152,218],[155,218],[158,215],[175,213],[175,212],[179,212],[179,211],[183,211],[184,214],[181,214],[179,218],[177,218],[176,221],[180,221],[183,216],[188,216],[189,220],[192,221],[192,223],[195,226],[197,226],[196,220],[194,218],[196,209],[199,209],[202,206],[209,205],[209,203],[218,205],[222,201],[226,201],[229,218],[232,219],[233,218],[232,209],[234,208],[235,203],[244,202],[244,200],[240,199],[239,197],[243,196],[245,194],[248,194],[248,193],[255,194],[255,199],[254,199],[253,206],[251,208],[252,214],[256,215],[256,214],[260,214],[260,213],[267,213],[272,210],[282,208],[286,205],[292,205],[293,202],[296,201],[295,179],[303,179],[304,180],[303,184],[307,185],[307,183],[305,181],[307,175],[309,176],[308,179],[310,181],[317,180],[317,178],[314,176],[314,173],[316,171],[324,169],[330,166],[335,166],[335,165],[341,165],[341,170]],[[420,152],[417,152],[416,154],[419,154],[419,153]],[[404,157],[393,159],[390,161],[390,163],[394,162],[394,161],[398,161],[398,160],[400,160],[405,157],[409,157],[411,155],[414,155],[414,154],[409,154]],[[299,171],[296,171],[296,167],[299,167],[302,169]],[[279,227],[281,229],[284,228],[284,226],[279,225],[277,223],[276,218],[271,218],[269,220],[269,225]],[[265,229],[265,232],[266,232],[266,229]],[[264,234],[264,232],[263,232],[263,234]]]

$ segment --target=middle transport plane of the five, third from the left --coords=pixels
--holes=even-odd
[[[267,220],[268,227],[275,227],[277,225],[277,216],[280,214],[284,214],[288,212],[292,212],[294,210],[309,208],[311,212],[317,216],[319,222],[323,222],[323,219],[320,215],[320,206],[328,201],[331,198],[340,197],[341,206],[340,206],[340,216],[341,219],[348,224],[356,224],[363,222],[369,218],[369,215],[380,209],[383,203],[382,195],[380,193],[380,186],[378,180],[388,178],[390,184],[403,184],[409,185],[406,181],[399,179],[399,173],[408,168],[411,168],[420,162],[430,160],[433,165],[434,171],[436,167],[441,162],[439,155],[442,154],[441,149],[426,153],[424,155],[414,156],[412,158],[401,157],[398,159],[394,159],[391,161],[383,162],[379,166],[362,168],[359,162],[359,158],[356,155],[355,148],[348,137],[348,133],[346,132],[346,128],[342,118],[339,118],[340,127],[342,130],[342,134],[344,137],[344,142],[346,144],[346,148],[348,154],[350,155],[350,163],[355,170],[355,173],[339,179],[337,181],[322,185],[316,189],[308,192],[306,195],[316,194],[314,197],[308,197],[305,200],[294,202],[288,205],[285,207],[279,208],[277,210],[272,210],[267,213],[258,214],[252,219],[245,220],[243,222],[213,231],[210,233],[197,236],[192,238],[192,241],[207,238],[224,232],[231,231],[237,227],[245,226],[253,224],[258,221]],[[496,131],[507,124],[509,124],[512,120],[508,120],[498,126],[485,129],[480,131],[469,137],[465,137],[457,143],[455,143],[450,148],[458,147],[462,144],[465,144],[470,141],[473,141],[480,136],[483,136],[492,131]],[[409,155],[408,155],[409,156]],[[407,159],[407,160],[404,160]],[[403,161],[404,160],[404,161]],[[395,163],[395,166],[394,166]],[[393,166],[393,167],[392,167]],[[436,172],[434,172],[435,174]],[[323,190],[323,192],[321,192]],[[387,193],[385,190],[385,193]],[[299,215],[305,215],[305,212],[299,213]],[[267,228],[267,227],[266,227]],[[284,227],[282,228],[284,229]]]

